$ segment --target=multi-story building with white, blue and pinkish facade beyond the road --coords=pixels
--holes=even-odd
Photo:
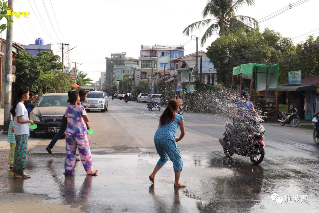
[[[141,45],[139,67],[140,80],[152,81],[154,73],[163,72],[174,66],[170,61],[184,56],[184,46],[178,45]],[[153,72],[153,75],[152,75]],[[150,75],[151,74],[151,75]],[[153,79],[154,80],[154,79]]]

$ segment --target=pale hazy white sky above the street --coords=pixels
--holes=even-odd
[[[255,0],[255,6],[244,6],[236,14],[262,19],[297,1]],[[305,40],[310,34],[318,36],[319,1],[302,1],[304,4],[261,23],[261,30],[269,27],[290,38],[305,34],[294,39],[294,43]],[[14,11],[28,11],[30,15],[28,20],[24,17],[14,18],[13,41],[28,45],[34,44],[34,38],[42,38],[45,44],[52,43],[54,53],[60,56],[61,45],[57,45],[57,42],[69,43],[70,48],[77,46],[70,51],[70,60],[83,63],[79,70],[88,72],[93,80],[99,80],[100,71],[105,71],[104,58],[110,57],[111,52],[126,52],[127,56],[138,58],[141,44],[180,45],[185,42],[185,54],[195,52],[195,40],[189,41],[190,37],[183,36],[182,31],[190,23],[202,20],[201,12],[207,1],[95,0],[95,4],[90,4],[91,2],[93,3],[84,0],[14,0]],[[315,29],[318,30],[308,33]],[[203,32],[197,31],[193,35],[202,36]],[[3,38],[5,35],[6,31],[2,33]],[[216,37],[208,39],[203,48],[199,42],[199,50],[206,50],[215,39]]]

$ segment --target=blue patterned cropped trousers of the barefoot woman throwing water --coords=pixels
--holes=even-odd
[[[169,158],[173,162],[174,171],[182,171],[183,161],[177,143],[170,139],[158,139],[154,143],[160,156],[157,165],[164,166]]]

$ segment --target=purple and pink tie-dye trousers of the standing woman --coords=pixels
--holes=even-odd
[[[75,166],[75,154],[76,150],[79,150],[81,162],[87,174],[93,173],[92,168],[92,157],[87,140],[87,135],[73,136],[65,135],[65,162],[64,162],[64,173],[71,175]]]

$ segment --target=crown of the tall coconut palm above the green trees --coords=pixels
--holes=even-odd
[[[254,5],[255,0],[209,0],[202,12],[203,18],[211,16],[214,19],[205,19],[192,23],[184,29],[183,34],[189,36],[194,30],[210,25],[201,40],[201,46],[204,46],[206,39],[218,30],[219,35],[230,33],[239,35],[242,32],[259,30],[256,19],[235,14],[235,11],[245,3],[249,6]]]

